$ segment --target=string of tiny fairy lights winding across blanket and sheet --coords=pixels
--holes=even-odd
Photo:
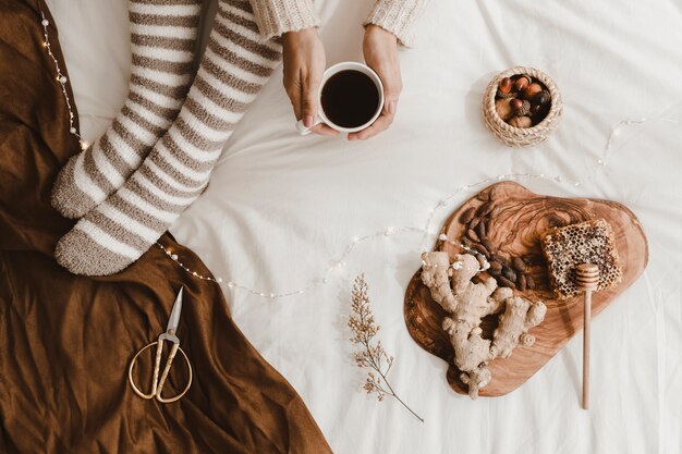
[[[83,139],[81,137],[81,134],[78,133],[78,131],[75,127],[75,123],[74,123],[74,113],[73,113],[73,109],[71,106],[71,100],[69,98],[69,93],[66,90],[66,84],[69,83],[68,77],[62,73],[60,66],[59,66],[59,61],[57,60],[57,58],[54,57],[54,54],[52,53],[52,49],[50,47],[50,39],[49,39],[49,33],[48,33],[48,27],[50,25],[49,21],[45,17],[45,14],[42,13],[42,11],[40,11],[40,15],[41,15],[41,25],[42,25],[42,29],[44,29],[44,42],[42,46],[47,49],[48,54],[50,56],[50,58],[52,59],[52,62],[54,63],[54,70],[56,70],[56,79],[57,82],[61,85],[61,90],[62,94],[64,96],[64,100],[66,102],[66,109],[69,111],[69,132],[74,135],[77,139],[78,143],[81,145],[81,148],[83,150],[87,149],[87,147],[89,146],[89,144]],[[623,127],[630,126],[632,124],[643,124],[646,122],[650,122],[650,121],[663,121],[663,122],[671,122],[671,123],[680,123],[680,121],[674,120],[674,119],[670,119],[667,118],[665,115],[661,116],[657,116],[657,118],[653,118],[653,119],[646,119],[646,118],[642,118],[642,119],[630,119],[630,120],[623,120],[620,123],[618,123],[616,126],[612,127],[611,130],[611,134],[609,135],[607,143],[606,143],[606,147],[604,149],[604,152],[601,154],[601,156],[597,159],[596,162],[596,169],[598,170],[599,168],[604,168],[607,165],[607,160],[610,156],[610,154],[613,151],[611,149],[611,145],[612,145],[612,140],[614,138],[617,138],[621,132]],[[595,170],[596,172],[596,170]],[[287,291],[287,292],[269,292],[269,291],[265,291],[265,290],[258,290],[258,289],[253,289],[248,285],[244,285],[241,284],[239,282],[236,282],[235,280],[232,279],[223,279],[221,277],[214,277],[214,275],[208,275],[208,274],[202,274],[199,272],[197,272],[196,270],[191,269],[190,267],[187,267],[181,259],[181,257],[175,254],[175,251],[173,251],[172,249],[170,249],[167,246],[163,246],[161,243],[156,243],[156,246],[158,248],[160,248],[163,254],[170,258],[171,260],[173,260],[180,268],[182,268],[185,272],[187,272],[190,275],[196,278],[196,279],[200,279],[204,281],[210,281],[210,282],[215,282],[219,285],[226,285],[228,289],[230,290],[240,290],[243,292],[247,292],[252,295],[255,296],[259,296],[263,298],[270,298],[270,299],[276,299],[276,298],[284,298],[284,297],[290,297],[290,296],[294,296],[294,295],[301,295],[304,294],[306,292],[313,291],[319,286],[326,285],[327,283],[329,283],[330,281],[330,277],[331,273],[334,272],[336,270],[338,270],[339,268],[342,268],[345,266],[345,260],[348,259],[348,257],[353,253],[353,250],[362,243],[365,242],[369,242],[376,238],[386,238],[386,237],[390,237],[390,236],[395,236],[395,235],[407,235],[407,234],[415,234],[415,233],[421,233],[422,234],[422,240],[421,240],[421,246],[419,249],[422,251],[427,250],[428,248],[428,244],[429,242],[433,242],[434,236],[436,235],[435,232],[431,231],[431,224],[434,222],[434,218],[436,217],[436,213],[446,208],[451,201],[453,201],[453,199],[455,199],[459,195],[461,195],[462,193],[466,193],[470,191],[475,191],[475,189],[483,189],[486,186],[492,184],[492,183],[497,183],[497,182],[501,182],[504,180],[546,180],[546,181],[551,181],[551,182],[556,182],[556,183],[562,183],[562,184],[570,184],[573,186],[581,186],[583,185],[583,180],[572,180],[572,179],[568,179],[564,177],[562,175],[550,175],[550,174],[546,174],[546,173],[503,173],[503,174],[499,174],[497,176],[490,176],[484,180],[480,180],[478,182],[475,183],[471,183],[471,184],[466,184],[466,185],[461,185],[455,187],[454,189],[452,189],[448,195],[446,195],[444,197],[440,198],[433,207],[431,209],[428,211],[427,213],[427,218],[426,218],[426,222],[424,224],[424,228],[416,228],[416,226],[398,226],[398,228],[393,228],[393,226],[388,226],[386,229],[382,229],[378,232],[374,232],[374,233],[369,233],[366,235],[362,235],[362,236],[355,236],[352,237],[349,242],[349,244],[342,249],[341,254],[339,254],[337,257],[333,257],[329,260],[329,266],[326,269],[326,271],[321,274],[318,275],[316,278],[313,279],[312,283],[301,287],[301,289],[296,289],[296,290],[291,290],[291,291]],[[471,251],[473,254],[477,254],[475,250],[471,250],[468,247],[466,247],[463,244],[458,244],[453,241],[450,241],[447,238],[446,235],[440,234],[438,236],[438,240],[442,241],[442,242],[449,242],[452,245],[459,246],[464,250]],[[456,267],[458,263],[453,263],[453,267]],[[487,262],[483,262],[480,269],[485,270],[487,269],[486,266],[489,266],[489,263]]]

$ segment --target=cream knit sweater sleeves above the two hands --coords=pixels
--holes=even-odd
[[[376,0],[363,25],[375,24],[392,33],[404,46],[414,42],[412,25],[428,0]],[[319,26],[313,0],[251,0],[264,38]]]

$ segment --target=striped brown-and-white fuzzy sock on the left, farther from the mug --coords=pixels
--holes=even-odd
[[[202,0],[130,0],[129,95],[107,132],[72,157],[52,189],[52,206],[80,218],[123,185],[170,127],[194,70]]]

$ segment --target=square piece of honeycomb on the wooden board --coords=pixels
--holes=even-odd
[[[616,286],[622,279],[613,230],[604,219],[551,229],[541,238],[551,285],[559,299],[581,293],[575,285],[575,267],[599,267],[597,292]]]

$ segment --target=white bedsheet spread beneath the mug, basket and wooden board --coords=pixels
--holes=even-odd
[[[328,63],[361,60],[369,0],[320,0]],[[125,2],[49,0],[83,132],[95,138],[125,96]],[[682,452],[682,3],[433,0],[417,48],[401,53],[404,91],[391,130],[365,143],[299,137],[281,70],[240,124],[210,186],[172,226],[222,285],[240,328],[303,396],[340,454]],[[497,143],[480,120],[489,78],[515,64],[559,85],[564,115],[532,149]],[[612,127],[626,119],[605,148]],[[598,160],[606,159],[606,165]],[[537,193],[629,206],[649,241],[644,275],[593,324],[592,409],[580,408],[581,336],[523,386],[472,402],[452,392],[447,365],[403,322],[405,286],[448,213],[438,200],[501,174]],[[575,186],[572,181],[583,181]],[[330,259],[360,242],[343,266]],[[397,402],[361,391],[350,332],[352,280],[365,272],[390,378],[422,424]],[[320,279],[328,277],[328,282]]]

